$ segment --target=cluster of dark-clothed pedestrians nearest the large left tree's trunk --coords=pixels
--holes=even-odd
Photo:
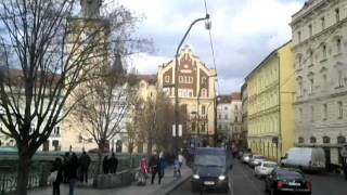
[[[78,173],[80,182],[88,183],[90,161],[90,157],[86,152],[82,152],[79,158],[76,153],[65,153],[63,161],[60,157],[55,158],[51,169],[52,173],[56,172],[55,180],[52,181],[53,195],[60,195],[60,184],[62,182],[69,184],[69,195],[74,195]]]

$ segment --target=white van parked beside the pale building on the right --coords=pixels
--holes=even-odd
[[[321,147],[292,147],[281,165],[301,170],[325,170],[325,154]]]

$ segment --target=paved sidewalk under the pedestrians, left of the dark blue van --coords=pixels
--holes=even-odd
[[[174,177],[174,167],[170,166],[165,169],[165,176],[162,179],[162,184],[158,184],[157,176],[155,178],[154,184],[151,184],[151,176],[146,181],[145,186],[138,186],[136,182],[131,185],[117,187],[117,188],[107,188],[107,190],[97,190],[91,187],[86,187],[76,184],[75,186],[75,195],[94,195],[94,194],[103,194],[103,195],[165,195],[172,192],[176,187],[178,187],[181,183],[188,180],[191,176],[191,169],[185,165],[181,168],[182,176],[180,178]],[[50,195],[52,194],[52,186],[44,188],[37,188],[28,192],[28,195]],[[61,185],[61,194],[68,194],[68,184]]]

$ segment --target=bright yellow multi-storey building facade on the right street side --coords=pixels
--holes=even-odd
[[[292,42],[270,53],[247,77],[248,147],[279,160],[294,144]]]

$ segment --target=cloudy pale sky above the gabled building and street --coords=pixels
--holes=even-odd
[[[288,23],[305,0],[207,0],[211,17],[219,92],[240,91],[245,76],[273,49],[291,39]],[[136,15],[144,15],[138,36],[152,39],[154,53],[132,57],[140,74],[155,74],[174,58],[189,25],[205,16],[204,0],[119,0]],[[208,31],[197,23],[184,44],[192,47],[208,67],[213,55]]]

